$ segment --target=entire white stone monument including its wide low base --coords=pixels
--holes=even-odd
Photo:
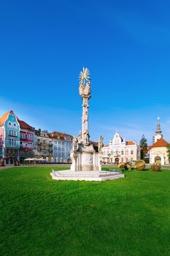
[[[70,157],[72,159],[71,170],[54,171],[51,173],[56,180],[85,180],[85,181],[105,181],[107,179],[123,178],[124,174],[109,173],[101,171],[101,159],[103,138],[100,136],[98,141],[98,152],[90,142],[88,129],[88,100],[90,99],[90,72],[83,68],[80,72],[79,93],[82,97],[82,129],[77,137],[72,140],[72,150]]]

